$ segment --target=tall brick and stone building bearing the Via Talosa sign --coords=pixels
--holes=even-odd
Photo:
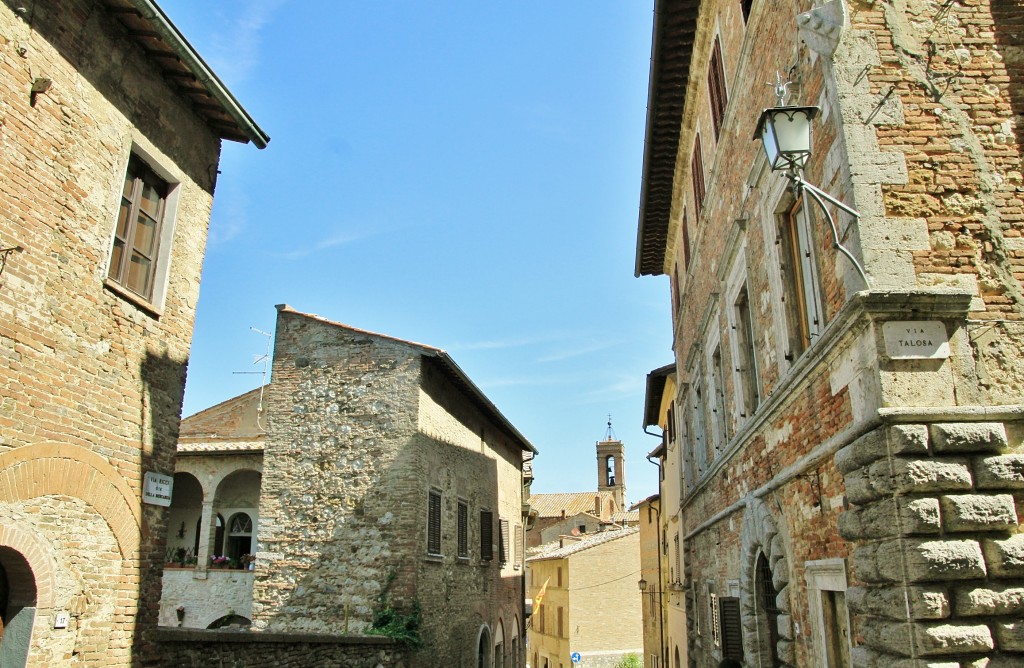
[[[1001,0],[656,0],[673,666],[1024,662],[1022,31]],[[790,178],[752,140],[776,73],[818,108]]]

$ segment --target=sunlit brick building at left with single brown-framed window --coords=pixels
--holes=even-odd
[[[4,0],[0,65],[0,664],[129,665],[220,142],[268,137],[152,0]]]

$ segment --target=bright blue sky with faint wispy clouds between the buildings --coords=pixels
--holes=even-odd
[[[185,415],[255,387],[289,303],[447,350],[593,490],[610,414],[631,501],[672,361],[664,278],[633,276],[650,0],[163,0],[269,133],[225,142]]]

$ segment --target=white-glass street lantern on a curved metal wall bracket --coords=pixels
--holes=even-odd
[[[785,103],[787,86],[790,82],[783,82],[779,75],[775,75],[775,97],[778,106],[766,109],[761,112],[758,119],[758,127],[754,132],[754,139],[761,139],[768,165],[773,172],[781,171],[783,175],[793,183],[794,191],[799,197],[807,193],[810,198],[817,203],[821,211],[828,219],[828,224],[833,233],[833,248],[846,255],[856,267],[864,285],[870,287],[864,267],[860,265],[857,258],[849,251],[839,239],[839,229],[833,219],[831,212],[825,206],[828,202],[836,207],[846,211],[854,218],[860,218],[860,213],[843,204],[821,189],[804,180],[801,173],[807,165],[813,150],[811,141],[811,121],[818,115],[817,107],[790,107]]]

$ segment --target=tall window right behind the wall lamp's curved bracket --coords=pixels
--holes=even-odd
[[[806,350],[824,328],[817,289],[817,263],[804,207],[797,201],[781,216],[779,224],[782,301],[785,303],[791,362]]]

